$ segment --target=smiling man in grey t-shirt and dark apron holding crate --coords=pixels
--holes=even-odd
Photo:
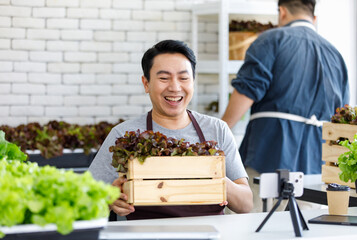
[[[192,50],[183,42],[165,40],[145,52],[141,65],[144,72],[142,83],[150,96],[152,110],[114,127],[89,171],[97,180],[112,183],[121,189],[126,179],[118,178],[116,169],[111,166],[109,147],[115,145],[116,139],[126,131],[153,130],[190,143],[216,141],[226,156],[228,202],[219,205],[134,207],[126,202],[127,196],[122,193],[110,208],[129,220],[223,214],[227,204],[234,212],[249,212],[253,207],[253,196],[228,125],[217,118],[187,109],[194,91],[196,59]],[[201,129],[202,126],[204,128]]]

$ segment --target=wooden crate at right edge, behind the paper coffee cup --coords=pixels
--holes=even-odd
[[[331,144],[339,138],[347,138],[351,142],[357,133],[357,125],[342,123],[324,123],[322,127],[322,139],[326,143],[322,144],[322,160],[326,163],[322,165],[322,181],[325,183],[338,183],[355,188],[355,183],[351,181],[343,182],[339,178],[341,170],[337,166],[338,157],[349,150],[343,146]]]

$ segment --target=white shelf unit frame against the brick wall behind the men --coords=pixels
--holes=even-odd
[[[219,60],[205,61],[198,60],[197,73],[218,74],[219,75],[219,116],[221,117],[228,105],[229,96],[229,74],[237,74],[243,61],[229,61],[229,20],[233,15],[239,15],[250,19],[276,18],[278,6],[276,2],[265,2],[259,0],[220,0],[216,2],[206,2],[192,6],[192,49],[198,57],[198,21],[201,18],[215,17],[218,19],[218,54]],[[235,16],[236,17],[236,16]],[[274,21],[273,21],[274,22]],[[199,57],[198,57],[199,59]],[[198,81],[195,81],[197,89]],[[194,92],[192,108],[197,109],[198,96]]]

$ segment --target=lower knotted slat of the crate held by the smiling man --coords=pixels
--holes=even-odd
[[[128,202],[143,205],[219,204],[226,201],[225,180],[130,180],[124,193],[130,191]]]

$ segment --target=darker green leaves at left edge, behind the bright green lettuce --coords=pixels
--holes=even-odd
[[[26,161],[27,155],[16,146],[16,144],[10,143],[5,140],[5,133],[0,131],[0,160],[20,160]]]

